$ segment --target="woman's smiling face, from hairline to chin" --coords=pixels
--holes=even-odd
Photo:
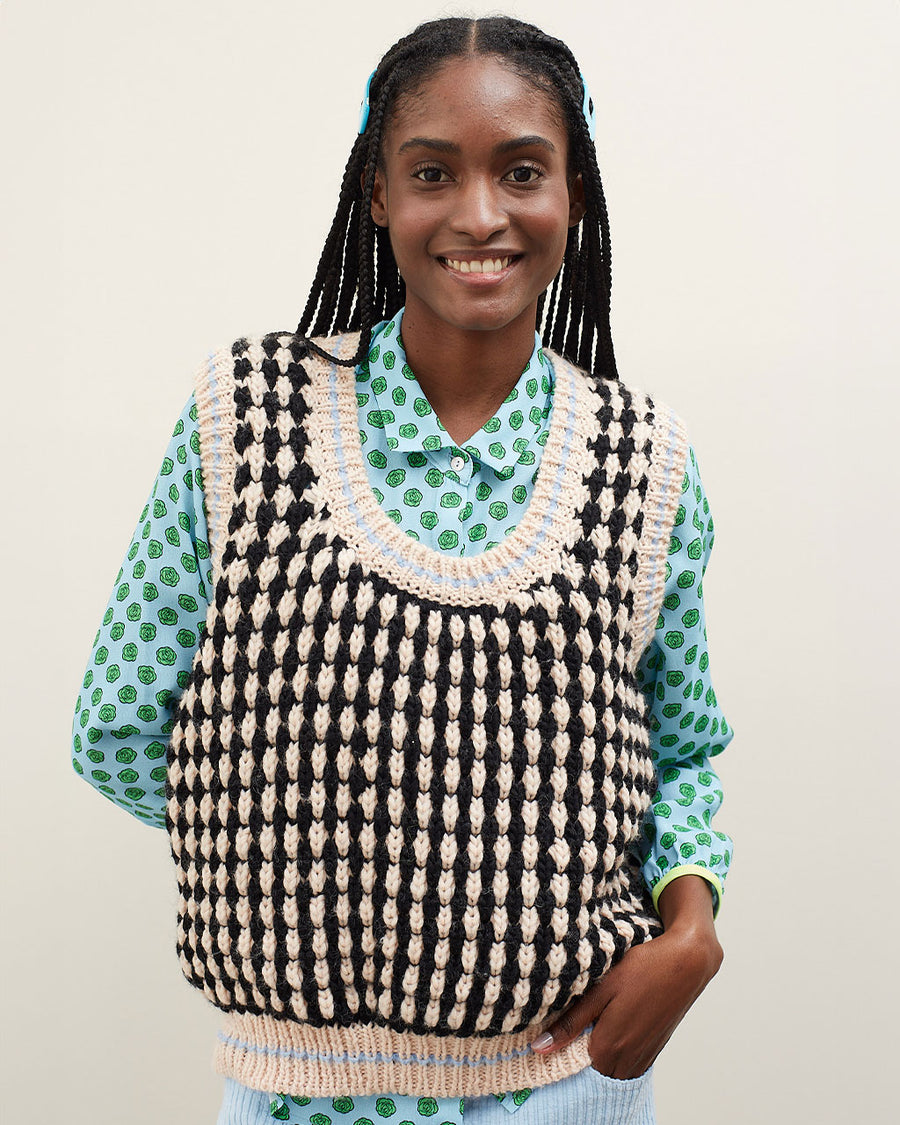
[[[584,214],[549,93],[493,55],[453,58],[402,98],[372,218],[387,226],[407,315],[440,332],[528,324]]]

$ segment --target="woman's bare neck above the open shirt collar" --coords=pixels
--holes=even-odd
[[[496,414],[534,350],[537,304],[502,328],[459,328],[407,303],[406,359],[450,436],[462,444]]]

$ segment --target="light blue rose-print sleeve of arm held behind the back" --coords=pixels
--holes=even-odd
[[[194,395],[181,412],[93,639],[72,722],[72,766],[110,801],[165,827],[165,748],[212,591]]]

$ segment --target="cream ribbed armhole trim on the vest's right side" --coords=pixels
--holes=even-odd
[[[633,672],[652,639],[666,587],[668,555],[675,515],[682,494],[687,462],[687,433],[681,418],[655,402],[650,468],[644,504],[644,526],[638,543],[638,573],[634,579],[634,613],[631,626],[629,668]]]

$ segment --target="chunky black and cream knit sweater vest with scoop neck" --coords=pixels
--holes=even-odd
[[[317,341],[356,352],[358,336]],[[271,333],[198,374],[215,592],[168,748],[188,981],[262,1090],[454,1097],[590,1064],[529,1044],[662,924],[631,845],[634,670],[687,451],[676,416],[546,352],[516,529],[441,554],[379,506],[352,368]]]

